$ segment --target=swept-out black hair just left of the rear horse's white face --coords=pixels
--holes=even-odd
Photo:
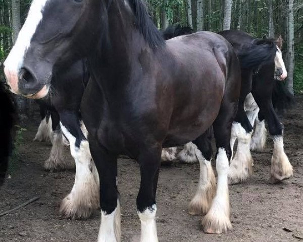
[[[273,39],[262,39],[237,53],[242,69],[258,69],[274,62],[277,47]]]

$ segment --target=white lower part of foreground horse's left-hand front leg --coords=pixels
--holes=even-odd
[[[101,224],[98,234],[98,242],[120,242],[121,241],[121,209],[120,202],[111,213],[101,211]]]

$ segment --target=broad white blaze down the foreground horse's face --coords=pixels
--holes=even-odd
[[[19,32],[18,38],[10,54],[4,62],[4,72],[12,92],[18,92],[18,75],[23,66],[26,50],[30,46],[32,36],[36,32],[38,24],[42,20],[44,6],[49,0],[33,0],[26,21]]]

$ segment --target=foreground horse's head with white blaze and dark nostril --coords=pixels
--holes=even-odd
[[[103,26],[96,23],[107,18],[103,10],[104,1],[34,0],[4,63],[11,91],[28,98],[46,96],[54,72],[96,45]]]

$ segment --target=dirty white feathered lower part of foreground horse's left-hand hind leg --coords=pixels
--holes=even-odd
[[[216,193],[216,177],[211,161],[206,160],[199,150],[197,159],[200,164],[200,178],[197,191],[188,206],[190,215],[206,214]]]

